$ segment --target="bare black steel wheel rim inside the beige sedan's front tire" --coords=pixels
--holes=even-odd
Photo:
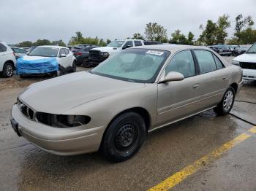
[[[123,125],[116,133],[115,146],[116,149],[124,151],[129,149],[137,139],[137,131],[134,125]]]

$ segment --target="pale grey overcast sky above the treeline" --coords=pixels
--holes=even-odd
[[[0,40],[7,43],[37,39],[68,42],[75,31],[83,36],[123,39],[157,22],[168,38],[180,29],[195,37],[200,24],[230,15],[233,35],[235,17],[251,15],[256,23],[255,0],[0,0]]]

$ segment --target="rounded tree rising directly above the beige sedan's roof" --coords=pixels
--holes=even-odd
[[[167,39],[167,31],[163,26],[157,23],[148,23],[145,28],[146,39],[162,42]]]

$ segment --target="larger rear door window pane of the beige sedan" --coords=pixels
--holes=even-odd
[[[216,64],[211,52],[207,50],[194,50],[201,74],[216,70]]]

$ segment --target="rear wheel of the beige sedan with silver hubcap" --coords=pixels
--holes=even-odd
[[[228,114],[235,101],[235,90],[233,87],[228,87],[225,94],[223,95],[222,101],[214,108],[214,112],[218,115]]]

